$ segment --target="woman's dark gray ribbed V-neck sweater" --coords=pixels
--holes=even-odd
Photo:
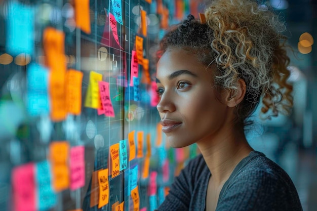
[[[157,210],[204,211],[210,176],[203,156],[193,158]],[[288,174],[263,153],[252,151],[236,165],[221,189],[216,211],[225,210],[297,211],[302,206]]]

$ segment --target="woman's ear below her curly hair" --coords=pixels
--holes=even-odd
[[[242,78],[240,78],[237,81],[237,90],[235,92],[228,92],[228,96],[226,98],[227,106],[232,108],[234,106],[239,105],[239,103],[242,102],[246,95],[246,90],[246,82]]]

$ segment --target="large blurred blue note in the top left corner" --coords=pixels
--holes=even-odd
[[[7,46],[9,54],[33,54],[34,51],[34,10],[18,1],[8,5]]]

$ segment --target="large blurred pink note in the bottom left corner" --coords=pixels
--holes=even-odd
[[[24,164],[12,171],[13,204],[15,211],[36,210],[35,165]]]

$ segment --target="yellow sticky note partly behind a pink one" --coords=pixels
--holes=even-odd
[[[91,71],[89,74],[89,84],[86,93],[85,107],[100,108],[99,83],[102,80],[102,74]]]

